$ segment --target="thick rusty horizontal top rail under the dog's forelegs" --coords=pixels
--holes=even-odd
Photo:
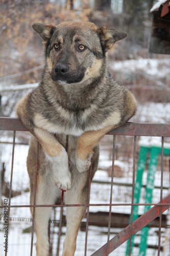
[[[0,117],[0,130],[28,131],[19,119],[7,117]],[[125,125],[118,127],[107,134],[170,137],[170,124],[127,122]]]

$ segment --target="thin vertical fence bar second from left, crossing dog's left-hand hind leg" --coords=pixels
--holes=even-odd
[[[32,232],[31,232],[31,252],[30,252],[30,256],[33,255],[34,225],[35,225],[35,204],[36,204],[37,170],[38,170],[38,154],[39,154],[39,142],[37,141],[37,156],[36,156],[35,184],[34,184],[33,223],[32,223]]]

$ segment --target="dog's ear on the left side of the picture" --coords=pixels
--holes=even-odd
[[[55,27],[53,25],[43,25],[41,23],[34,23],[33,29],[42,37],[44,44],[48,41],[54,32]]]

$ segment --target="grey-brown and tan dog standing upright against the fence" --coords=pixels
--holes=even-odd
[[[133,94],[114,81],[107,69],[107,51],[127,34],[90,22],[33,24],[33,29],[45,45],[45,66],[39,86],[21,99],[16,108],[18,118],[33,135],[27,158],[30,203],[34,202],[38,141],[36,204],[55,204],[61,189],[66,190],[65,204],[86,204],[91,158],[93,177],[101,138],[125,124],[137,109]],[[51,210],[35,210],[38,256],[48,255]],[[85,211],[85,206],[66,207],[63,256],[75,254]]]

